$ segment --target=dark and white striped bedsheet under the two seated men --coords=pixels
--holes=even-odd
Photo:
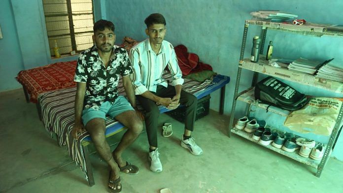
[[[171,73],[169,71],[165,71],[163,77],[168,82],[172,81]],[[227,80],[227,82],[228,81],[229,80]],[[211,83],[212,80],[197,82],[194,80],[185,79],[183,89],[195,96],[200,96],[199,94],[201,94],[201,92],[204,91]],[[119,95],[125,96],[121,79],[118,86]],[[39,104],[41,107],[42,122],[45,129],[51,135],[56,133],[59,145],[67,145],[70,157],[80,165],[88,180],[86,161],[82,151],[82,141],[86,137],[89,137],[89,133],[84,131],[78,137],[78,140],[75,140],[72,136],[69,136],[74,124],[75,93],[76,87],[45,93],[39,96]],[[137,105],[139,108],[139,103]],[[160,112],[168,111],[168,109],[162,105],[159,106],[159,109]],[[109,128],[114,127],[116,124],[120,123],[108,116],[106,117],[106,130],[110,130]],[[106,135],[109,134],[110,133],[106,132]]]

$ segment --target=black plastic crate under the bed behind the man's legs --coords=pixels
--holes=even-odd
[[[197,106],[197,115],[195,116],[195,120],[205,117],[208,115],[209,111],[209,99],[211,96],[206,95],[200,99],[198,99],[198,106]],[[166,112],[167,115],[171,116],[172,118],[176,119],[179,122],[185,122],[185,110],[186,107],[180,106],[175,110]]]

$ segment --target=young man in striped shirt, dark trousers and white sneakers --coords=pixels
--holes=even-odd
[[[145,126],[149,141],[150,169],[162,171],[157,148],[157,125],[160,111],[157,104],[168,109],[176,109],[180,104],[186,106],[185,131],[181,146],[193,155],[201,155],[203,150],[195,143],[191,132],[194,129],[197,98],[182,90],[182,72],[178,66],[175,51],[171,43],[164,40],[166,20],[163,15],[154,13],[145,19],[148,39],[134,46],[130,51],[130,61],[134,67],[133,84],[137,100],[145,110]],[[162,74],[168,65],[173,81],[168,85]]]

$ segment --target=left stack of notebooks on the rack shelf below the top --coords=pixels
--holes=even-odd
[[[306,74],[314,74],[323,62],[299,58],[288,65],[288,69]]]

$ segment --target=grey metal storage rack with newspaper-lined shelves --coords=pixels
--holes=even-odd
[[[264,60],[265,57],[260,56],[260,60],[257,63],[252,63],[250,62],[250,59],[244,59],[244,50],[245,50],[245,42],[247,38],[247,31],[249,25],[257,25],[261,26],[261,34],[262,34],[262,42],[261,42],[261,50],[260,54],[263,53],[263,47],[266,39],[266,34],[267,34],[267,29],[268,30],[276,30],[276,31],[284,31],[284,32],[295,32],[295,33],[300,33],[304,35],[314,35],[314,36],[322,36],[322,35],[331,35],[334,37],[343,37],[343,33],[339,32],[327,32],[325,29],[326,27],[332,26],[332,25],[325,25],[325,24],[311,24],[307,23],[305,25],[293,25],[293,24],[285,24],[285,23],[277,23],[277,22],[268,22],[268,21],[259,21],[259,20],[245,20],[245,25],[244,25],[244,31],[243,31],[243,39],[242,39],[242,44],[241,44],[241,49],[240,49],[240,62],[239,62],[239,68],[237,72],[237,81],[236,81],[236,86],[235,86],[235,93],[234,93],[234,100],[232,104],[232,110],[231,110],[231,117],[230,117],[230,123],[229,123],[229,137],[230,133],[233,132],[235,134],[240,135],[241,137],[244,137],[250,141],[253,141],[257,144],[259,144],[258,141],[255,141],[251,138],[251,134],[246,133],[242,130],[238,130],[234,128],[234,119],[235,119],[235,109],[236,109],[236,102],[237,100],[243,101],[247,103],[247,105],[255,105],[259,108],[267,109],[268,105],[258,103],[255,101],[254,98],[254,86],[257,83],[257,78],[258,74],[267,74],[270,76],[274,76],[277,78],[289,80],[292,82],[296,82],[299,84],[303,85],[309,85],[312,87],[328,90],[331,92],[335,93],[340,93],[343,94],[343,83],[341,82],[336,82],[336,81],[331,81],[323,78],[317,78],[313,75],[309,74],[304,74],[301,72],[295,72],[295,71],[290,71],[286,68],[275,68],[272,66],[268,65],[268,61]],[[252,83],[251,87],[245,91],[242,91],[238,93],[239,86],[240,86],[240,74],[241,74],[241,69],[247,69],[254,71],[254,75],[252,78]],[[248,107],[248,106],[247,106]],[[277,108],[274,106],[271,106],[268,108],[268,111],[271,113],[276,113],[281,116],[288,116],[290,113],[287,110]],[[249,108],[246,108],[245,114],[249,115]],[[289,157],[293,160],[302,162],[304,164],[307,164],[311,167],[314,167],[317,169],[317,172],[315,173],[315,176],[320,177],[324,166],[326,162],[330,158],[331,150],[334,148],[334,145],[337,141],[338,138],[338,133],[342,124],[342,117],[343,117],[343,105],[340,109],[338,118],[336,120],[336,125],[332,130],[332,133],[330,135],[328,144],[326,146],[323,158],[320,161],[315,161],[309,158],[303,158],[299,156],[296,152],[293,153],[288,153],[285,151],[282,151],[280,149],[274,148],[272,145],[265,146],[268,149],[271,149],[275,152],[278,152],[286,157]],[[261,144],[260,144],[261,145]]]

